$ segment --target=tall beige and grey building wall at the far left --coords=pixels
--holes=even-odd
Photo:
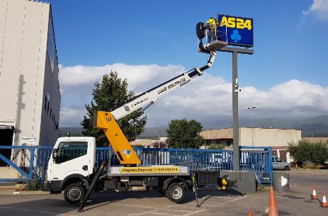
[[[1,0],[0,35],[0,125],[15,126],[13,145],[21,145],[21,137],[55,144],[60,86],[50,4]],[[46,96],[52,115],[45,109]]]

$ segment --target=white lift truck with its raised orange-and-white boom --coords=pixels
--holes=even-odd
[[[219,42],[220,46],[222,42]],[[216,49],[216,48],[213,48]],[[94,137],[60,137],[52,151],[47,166],[47,181],[42,190],[51,193],[64,191],[67,203],[80,203],[79,211],[93,191],[147,191],[157,190],[169,200],[179,203],[186,191],[196,189],[198,184],[219,185],[221,188],[235,186],[235,181],[220,177],[219,171],[189,171],[186,166],[142,166],[116,120],[132,111],[146,108],[166,93],[187,84],[212,66],[215,50],[208,50],[210,57],[204,67],[194,68],[174,79],[141,93],[111,112],[94,113],[94,127],[103,129],[120,166],[109,166],[103,160],[96,170],[96,139]]]

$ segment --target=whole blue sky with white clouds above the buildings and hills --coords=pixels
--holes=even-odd
[[[196,24],[225,14],[254,19],[254,55],[238,55],[239,121],[328,113],[328,0],[50,0],[60,64],[60,127],[79,127],[109,72],[136,94],[194,67]],[[256,106],[254,109],[248,107]],[[146,127],[195,119],[232,125],[232,54],[145,110]]]

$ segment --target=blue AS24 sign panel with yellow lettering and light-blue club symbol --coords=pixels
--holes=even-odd
[[[242,18],[217,14],[219,31],[222,40],[229,45],[239,47],[253,47],[253,18]],[[225,35],[227,32],[227,36]]]

